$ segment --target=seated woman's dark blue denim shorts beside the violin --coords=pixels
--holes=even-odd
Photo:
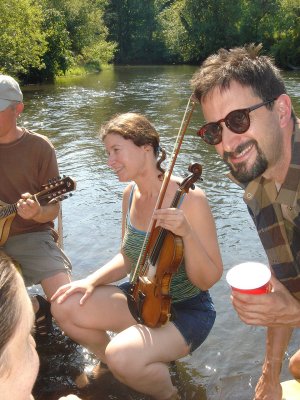
[[[127,295],[129,282],[123,282],[118,287]],[[196,350],[207,338],[216,319],[216,311],[208,291],[197,296],[172,303],[173,323],[184,337],[190,353]]]

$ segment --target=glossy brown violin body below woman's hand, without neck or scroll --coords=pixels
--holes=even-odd
[[[157,230],[159,232],[159,229]],[[156,235],[153,236],[153,243]],[[183,241],[181,237],[168,232],[164,239],[155,267],[156,273],[139,276],[132,285],[128,306],[134,318],[150,328],[166,324],[171,317],[170,285],[172,276],[177,272],[183,259]]]

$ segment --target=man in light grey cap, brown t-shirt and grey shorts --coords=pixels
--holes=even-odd
[[[70,282],[72,266],[57,244],[53,221],[59,204],[41,205],[32,195],[59,176],[59,171],[50,140],[17,125],[23,110],[18,82],[0,75],[0,250],[17,261],[26,286],[41,284],[50,299],[61,285]],[[16,204],[16,213],[1,214],[6,204]],[[46,299],[40,295],[33,298],[37,335],[52,329]]]

